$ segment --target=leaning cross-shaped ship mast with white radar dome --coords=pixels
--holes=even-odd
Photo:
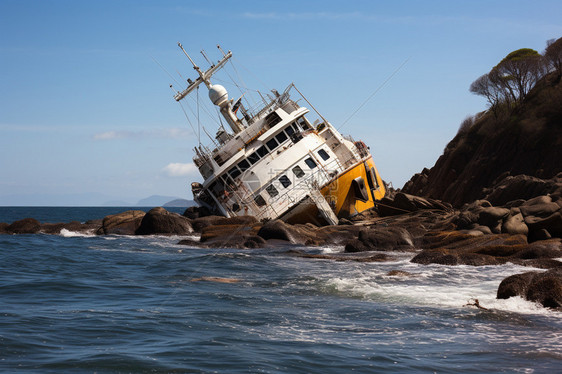
[[[174,95],[174,99],[179,102],[184,97],[189,95],[189,93],[193,92],[193,90],[199,87],[201,83],[204,83],[205,86],[207,86],[207,88],[209,89],[209,98],[211,99],[213,104],[217,105],[220,108],[221,114],[232,128],[232,131],[237,134],[244,130],[242,122],[236,117],[236,114],[232,110],[232,100],[228,100],[228,92],[226,91],[226,89],[220,84],[212,84],[210,80],[212,75],[217,70],[222,68],[224,64],[226,64],[228,59],[232,57],[232,52],[228,51],[228,53],[226,54],[223,52],[223,58],[220,59],[216,65],[212,65],[206,71],[202,71],[201,68],[197,66],[197,64],[187,54],[185,49],[183,49],[181,43],[178,43],[178,46],[193,65],[193,69],[195,69],[197,73],[199,73],[199,78],[197,78],[195,81],[188,79],[187,81],[189,83],[189,86],[187,86],[187,88],[182,92],[178,92],[176,95]],[[220,49],[220,46],[217,47]]]

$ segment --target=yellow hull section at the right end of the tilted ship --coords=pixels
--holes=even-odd
[[[353,181],[357,178],[364,181],[366,194],[363,196],[357,196],[357,188],[353,186]],[[375,201],[382,199],[386,190],[373,157],[369,157],[336,176],[320,192],[332,206],[336,216],[345,218],[374,207]]]

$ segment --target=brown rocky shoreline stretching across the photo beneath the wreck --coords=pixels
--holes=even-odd
[[[521,296],[562,310],[562,173],[549,180],[506,175],[485,199],[460,209],[394,192],[376,209],[342,219],[337,226],[262,223],[250,216],[208,216],[197,208],[180,215],[161,207],[85,223],[41,224],[33,218],[0,223],[0,234],[59,234],[63,229],[97,235],[199,236],[179,242],[195,248],[344,247],[330,255],[298,248],[286,252],[305,259],[380,262],[392,259],[387,253],[401,251],[411,252],[411,261],[422,265],[513,263],[546,271],[506,278],[498,287],[498,298]]]

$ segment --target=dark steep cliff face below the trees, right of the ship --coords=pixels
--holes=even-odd
[[[482,113],[463,127],[431,169],[402,191],[461,206],[506,175],[551,178],[562,171],[562,84],[547,76],[517,108]]]

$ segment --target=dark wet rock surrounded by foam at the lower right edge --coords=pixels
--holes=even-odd
[[[504,279],[497,292],[498,299],[521,296],[546,308],[562,307],[562,268],[543,273],[528,272]]]

